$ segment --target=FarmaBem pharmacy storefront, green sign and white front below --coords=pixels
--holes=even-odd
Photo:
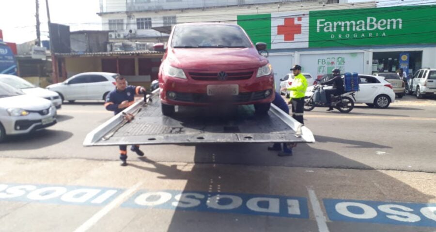
[[[296,63],[317,77],[335,68],[365,74],[436,68],[436,7],[431,5],[239,15],[237,19],[253,43],[268,44],[277,81]]]

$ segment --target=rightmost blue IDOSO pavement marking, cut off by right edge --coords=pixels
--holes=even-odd
[[[436,227],[435,203],[324,199],[332,221]]]

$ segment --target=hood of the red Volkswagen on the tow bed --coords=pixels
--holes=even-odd
[[[255,69],[268,63],[254,48],[172,48],[173,67],[192,70]]]

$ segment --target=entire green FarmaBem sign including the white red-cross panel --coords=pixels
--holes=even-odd
[[[280,12],[237,19],[253,43],[265,42],[270,49],[436,43],[436,5]]]

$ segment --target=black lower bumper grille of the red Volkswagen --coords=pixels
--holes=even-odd
[[[208,96],[207,94],[199,93],[180,93],[176,92],[175,101],[180,102],[197,102],[197,103],[211,103],[211,102],[253,102],[265,99],[265,91],[239,93],[238,95],[227,96],[227,98]],[[270,89],[270,91],[272,91]]]

